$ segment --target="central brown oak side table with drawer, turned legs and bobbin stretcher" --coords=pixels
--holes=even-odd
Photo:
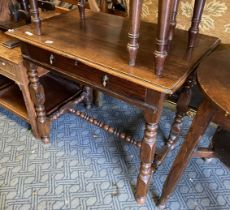
[[[186,50],[187,32],[176,30],[171,51],[165,63],[162,78],[153,71],[152,43],[156,25],[141,24],[140,43],[136,66],[127,64],[126,50],[128,20],[123,17],[86,11],[85,20],[76,10],[56,16],[42,23],[41,36],[34,34],[34,25],[27,25],[7,34],[22,41],[21,50],[27,63],[30,92],[37,112],[38,126],[46,119],[44,92],[37,77],[37,66],[71,80],[108,93],[144,110],[146,128],[142,141],[87,116],[78,110],[71,113],[115,134],[140,148],[140,172],[137,180],[136,200],[143,203],[152,175],[158,122],[166,97],[178,90],[201,59],[218,44],[217,38],[199,35],[198,45]],[[149,33],[153,31],[153,33]],[[84,94],[79,96],[79,102]]]

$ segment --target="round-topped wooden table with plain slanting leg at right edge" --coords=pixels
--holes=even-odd
[[[230,131],[229,55],[230,46],[222,46],[212,53],[205,62],[200,64],[197,78],[200,88],[204,93],[204,100],[199,106],[192,126],[173,162],[163,187],[159,207],[165,206],[166,201],[175,189],[193,155],[205,158],[220,156],[224,159],[224,162],[230,164],[230,135],[227,131],[220,130],[220,128],[217,130],[209,148],[201,148],[194,152],[211,121],[218,124],[221,128]],[[217,138],[220,134],[222,135],[222,139]],[[215,150],[215,146],[217,150]]]

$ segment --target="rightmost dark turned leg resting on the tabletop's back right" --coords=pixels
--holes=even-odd
[[[188,47],[194,47],[196,44],[196,38],[199,34],[199,25],[201,22],[205,1],[206,0],[195,0],[192,25],[189,29]]]

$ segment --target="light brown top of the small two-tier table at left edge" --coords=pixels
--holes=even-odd
[[[12,39],[0,31],[0,58],[10,61],[14,64],[22,63],[22,54],[19,47],[8,49],[2,45],[5,41]]]

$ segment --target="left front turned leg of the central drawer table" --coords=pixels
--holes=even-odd
[[[49,143],[49,126],[50,122],[46,117],[45,111],[45,94],[43,86],[39,82],[38,72],[37,72],[37,65],[25,61],[25,66],[27,67],[27,74],[29,77],[29,90],[31,99],[35,106],[35,111],[37,115],[37,127],[39,135],[42,138],[44,143]]]

